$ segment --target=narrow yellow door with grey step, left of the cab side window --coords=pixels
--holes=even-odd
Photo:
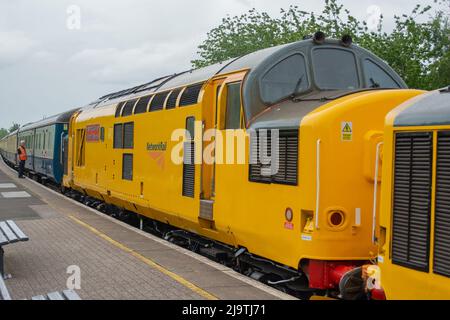
[[[203,132],[205,141],[202,141],[202,154],[208,154],[209,159],[203,158],[201,173],[200,213],[199,218],[214,220],[214,197],[215,197],[215,150],[216,139],[214,129],[217,129],[217,117],[219,108],[219,94],[223,79],[215,80],[208,84],[203,97]],[[206,101],[210,101],[207,103]],[[206,103],[205,103],[206,102]]]

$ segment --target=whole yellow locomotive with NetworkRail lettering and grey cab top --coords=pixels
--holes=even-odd
[[[377,256],[384,117],[419,94],[348,37],[316,35],[91,103],[70,121],[64,188],[255,279],[354,298],[358,267]],[[236,153],[244,136],[244,156],[194,161],[210,129]],[[278,170],[260,160],[262,145],[278,153]]]

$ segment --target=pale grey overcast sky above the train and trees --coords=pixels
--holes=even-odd
[[[366,19],[432,0],[341,0]],[[113,91],[190,68],[197,46],[227,14],[255,7],[278,15],[322,0],[0,0],[0,127],[24,124]],[[75,7],[74,7],[75,5]],[[77,10],[80,9],[80,28]]]

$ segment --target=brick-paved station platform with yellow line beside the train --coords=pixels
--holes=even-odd
[[[71,266],[81,272],[76,292],[85,300],[295,299],[19,179],[0,159],[0,221],[9,219],[30,238],[4,247],[13,299],[67,289]]]

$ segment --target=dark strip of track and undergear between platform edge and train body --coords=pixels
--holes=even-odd
[[[10,167],[17,171],[15,166]],[[254,256],[248,253],[244,248],[236,249],[200,237],[186,230],[178,229],[168,224],[140,216],[134,212],[106,204],[98,199],[88,197],[74,190],[62,190],[59,185],[52,183],[44,177],[33,174],[32,172],[26,172],[26,174],[30,179],[38,182],[42,186],[63,194],[86,207],[127,223],[133,228],[142,230],[167,242],[188,249],[211,261],[220,263],[237,271],[250,279],[257,280],[295,298],[307,300],[311,296],[333,296],[333,292],[309,289],[306,276],[299,274],[296,270]]]

